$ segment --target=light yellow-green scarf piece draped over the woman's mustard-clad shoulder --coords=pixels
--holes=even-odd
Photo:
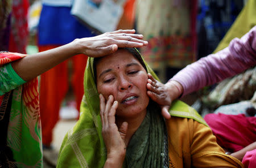
[[[199,123],[204,124],[205,126],[208,126],[208,124],[201,117],[201,115],[197,113],[197,111],[193,109],[193,107],[185,104],[183,101],[175,100],[174,102],[172,102],[172,105],[169,109],[169,113],[171,114],[172,117],[193,119]]]

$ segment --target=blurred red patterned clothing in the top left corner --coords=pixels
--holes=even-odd
[[[0,49],[26,54],[28,44],[28,0],[2,1]]]

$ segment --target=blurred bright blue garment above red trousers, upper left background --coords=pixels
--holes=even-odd
[[[64,45],[75,38],[96,36],[70,11],[71,7],[43,5],[38,25],[39,45]]]

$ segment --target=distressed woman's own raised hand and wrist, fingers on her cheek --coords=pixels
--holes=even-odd
[[[128,124],[124,122],[118,129],[115,124],[115,112],[118,102],[112,95],[106,101],[100,94],[100,115],[102,122],[102,136],[107,150],[107,161],[104,167],[121,166],[126,154],[125,136]]]

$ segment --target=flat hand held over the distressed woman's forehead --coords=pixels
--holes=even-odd
[[[143,35],[134,34],[135,30],[119,30],[107,32],[99,36],[76,39],[74,42],[80,48],[80,53],[89,57],[102,57],[112,54],[118,48],[139,48],[148,42],[141,40]]]

